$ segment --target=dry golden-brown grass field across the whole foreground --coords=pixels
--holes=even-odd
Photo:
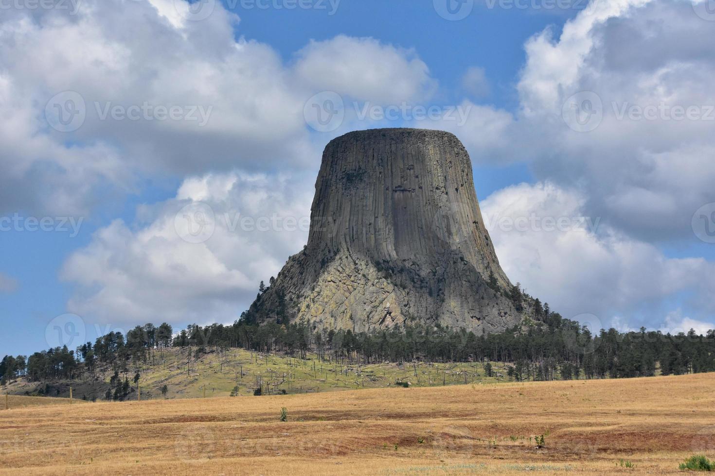
[[[0,474],[672,474],[696,453],[715,374],[0,410]]]

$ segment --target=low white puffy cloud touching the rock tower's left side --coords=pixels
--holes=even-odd
[[[73,253],[70,312],[102,323],[232,322],[307,241],[312,191],[297,176],[188,178],[169,201],[112,222]],[[195,233],[194,233],[195,232]]]

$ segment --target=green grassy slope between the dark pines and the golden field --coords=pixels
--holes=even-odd
[[[190,357],[189,357],[190,355]],[[195,348],[170,348],[154,351],[139,368],[130,365],[119,373],[128,378],[132,391],[127,400],[164,398],[162,387],[167,386],[166,398],[226,397],[238,387],[237,395],[254,395],[256,388],[264,394],[317,393],[359,388],[389,388],[409,385],[428,387],[455,384],[497,383],[506,379],[501,363],[491,363],[493,377],[486,375],[481,363],[376,363],[348,365],[347,360],[328,362],[316,354],[305,360],[282,355],[261,354],[241,349],[226,352],[209,351],[195,358]],[[139,389],[134,375],[139,372]],[[2,389],[11,395],[69,396],[104,400],[112,368],[103,368],[96,378],[31,383],[15,380]],[[137,391],[139,390],[139,391]]]

